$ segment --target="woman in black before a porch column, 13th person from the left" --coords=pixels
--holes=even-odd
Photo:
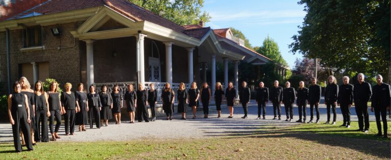
[[[165,83],[164,90],[161,92],[161,101],[163,102],[163,110],[167,116],[167,120],[173,120],[175,93],[170,87],[170,83]]]

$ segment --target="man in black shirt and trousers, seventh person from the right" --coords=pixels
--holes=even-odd
[[[292,105],[295,103],[296,99],[296,91],[295,88],[291,87],[290,82],[285,82],[285,88],[283,90],[283,103],[285,107],[285,114],[287,115],[287,119],[285,121],[293,120],[293,107]]]

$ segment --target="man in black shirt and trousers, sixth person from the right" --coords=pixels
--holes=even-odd
[[[299,120],[296,120],[296,122],[303,122],[305,123],[305,117],[306,117],[306,107],[307,107],[307,101],[308,101],[308,93],[309,89],[304,87],[304,82],[299,82],[299,89],[297,90],[297,100],[296,105],[299,108]],[[301,121],[301,117],[303,117],[303,120]]]

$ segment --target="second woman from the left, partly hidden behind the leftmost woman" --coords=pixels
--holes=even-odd
[[[35,144],[35,140],[37,140],[37,136],[34,136],[35,133],[37,133],[37,128],[35,127],[35,102],[34,102],[34,90],[31,89],[31,85],[26,77],[21,77],[19,79],[19,82],[22,86],[21,93],[27,95],[27,102],[29,102],[29,108],[30,108],[30,117],[31,117],[31,123],[30,123],[30,133],[31,133],[31,141],[33,145]],[[22,137],[22,145],[25,144],[23,132],[21,132]]]

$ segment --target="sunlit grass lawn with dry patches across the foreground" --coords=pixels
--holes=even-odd
[[[390,139],[330,124],[299,124],[205,139],[140,139],[124,142],[49,142],[14,153],[0,144],[0,159],[390,159]],[[391,126],[389,126],[391,128]]]

